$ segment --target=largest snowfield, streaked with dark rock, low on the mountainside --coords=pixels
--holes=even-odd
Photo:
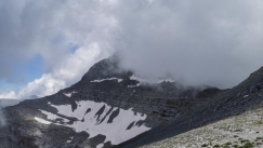
[[[86,131],[90,134],[89,138],[92,138],[98,134],[105,135],[104,143],[110,140],[113,145],[118,145],[126,142],[145,131],[150,130],[146,127],[143,121],[146,119],[146,115],[134,112],[132,108],[128,110],[120,109],[118,107],[111,107],[105,103],[95,103],[93,100],[77,102],[77,109],[73,111],[71,105],[52,105],[56,108],[57,113],[77,118],[78,121],[73,124],[68,124],[68,119],[62,118],[57,115],[40,110],[47,115],[50,121],[35,117],[38,122],[43,124],[57,124],[75,129],[76,132]],[[62,122],[55,122],[56,119],[62,119]],[[102,146],[102,145],[101,145]]]

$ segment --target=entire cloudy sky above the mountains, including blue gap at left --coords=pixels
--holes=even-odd
[[[50,95],[119,51],[154,79],[232,88],[263,66],[262,0],[0,0],[0,98]]]

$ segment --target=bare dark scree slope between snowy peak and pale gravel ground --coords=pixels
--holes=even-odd
[[[237,86],[214,95],[202,107],[181,116],[168,124],[145,132],[120,144],[118,147],[133,148],[169,139],[187,131],[205,126],[208,123],[238,116],[262,104],[262,102],[263,67],[251,73],[248,79]],[[225,147],[227,148],[227,146]]]

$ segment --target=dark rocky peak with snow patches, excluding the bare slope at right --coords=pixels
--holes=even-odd
[[[139,80],[119,68],[117,57],[104,59],[68,89],[4,108],[0,144],[6,148],[113,147],[195,110],[220,92]]]

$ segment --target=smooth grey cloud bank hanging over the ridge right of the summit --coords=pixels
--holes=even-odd
[[[122,66],[144,77],[232,88],[263,65],[262,4],[126,1],[118,14]]]

